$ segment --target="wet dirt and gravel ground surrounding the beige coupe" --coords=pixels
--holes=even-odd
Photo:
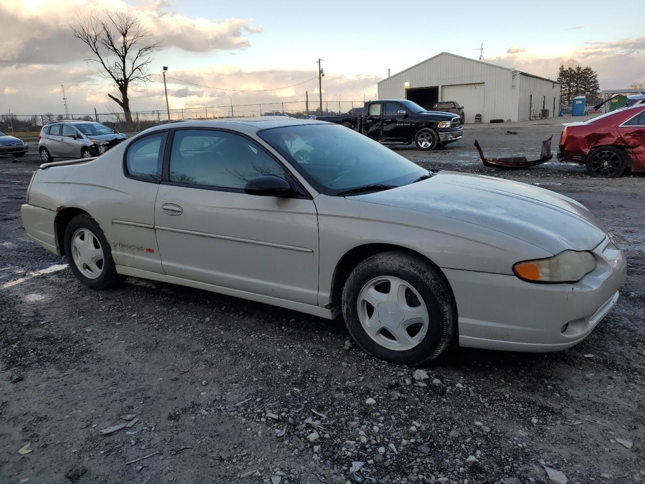
[[[363,354],[342,321],[132,278],[83,287],[21,225],[35,144],[0,158],[0,482],[645,482],[645,177],[499,172],[472,145],[537,156],[561,121],[397,151],[582,201],[628,257],[619,303],[570,350],[452,347],[418,372]]]

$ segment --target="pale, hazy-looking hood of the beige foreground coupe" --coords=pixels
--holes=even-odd
[[[591,250],[605,237],[581,203],[533,185],[488,176],[439,172],[424,181],[352,199],[465,221],[554,255],[567,249]]]

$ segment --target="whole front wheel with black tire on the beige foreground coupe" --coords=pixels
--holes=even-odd
[[[359,347],[403,365],[432,361],[457,334],[448,281],[430,263],[404,252],[383,252],[357,265],[342,291],[342,314]]]

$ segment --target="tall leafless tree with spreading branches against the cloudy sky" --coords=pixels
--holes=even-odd
[[[149,80],[150,55],[159,50],[161,41],[148,43],[150,32],[136,14],[93,12],[79,15],[78,21],[72,27],[74,36],[92,50],[94,58],[87,61],[97,64],[99,74],[117,86],[119,96],[108,97],[121,107],[128,125],[132,125],[128,91]]]

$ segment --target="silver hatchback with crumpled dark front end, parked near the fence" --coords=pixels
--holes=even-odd
[[[45,163],[57,157],[91,158],[126,138],[123,133],[94,121],[55,121],[41,129],[38,152]]]

